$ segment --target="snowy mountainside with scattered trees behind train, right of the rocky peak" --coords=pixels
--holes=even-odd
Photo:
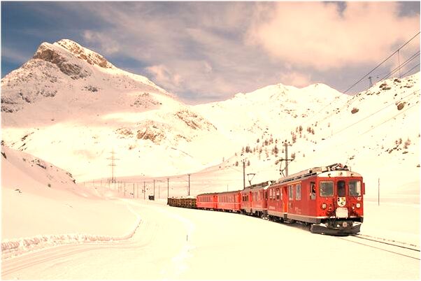
[[[287,141],[290,173],[343,162],[364,175],[368,194],[377,194],[380,179],[383,192],[419,201],[419,81],[420,73],[392,78],[355,96],[325,85],[273,85],[195,109],[241,145],[219,165],[227,174],[244,159],[253,182],[280,177]]]

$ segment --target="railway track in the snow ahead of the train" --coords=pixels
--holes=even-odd
[[[390,252],[398,254],[403,257],[420,260],[420,246],[411,243],[403,243],[397,240],[388,240],[385,238],[378,238],[367,236],[364,234],[356,234],[352,236],[338,237],[341,240],[346,240],[351,243],[364,245],[366,247],[373,247],[383,252]]]

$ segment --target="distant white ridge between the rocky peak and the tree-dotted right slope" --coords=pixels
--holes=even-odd
[[[228,138],[244,141],[270,134],[285,138],[291,128],[308,122],[319,113],[327,101],[331,101],[331,106],[323,113],[329,113],[331,108],[348,99],[350,96],[324,84],[301,89],[278,84],[194,108],[212,120]]]

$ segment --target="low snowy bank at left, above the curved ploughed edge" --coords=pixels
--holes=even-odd
[[[95,235],[117,238],[134,227],[136,216],[130,210],[116,201],[104,200],[115,192],[100,194],[76,185],[71,174],[61,168],[4,145],[0,157],[2,252],[59,243],[57,239],[66,243],[64,240],[71,236],[60,235],[67,234],[74,234],[74,239]]]

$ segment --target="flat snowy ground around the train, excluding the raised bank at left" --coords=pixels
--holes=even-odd
[[[125,240],[57,245],[3,259],[3,279],[418,280],[420,254],[310,233],[299,225],[124,199],[140,217]],[[419,207],[366,204],[362,233],[417,243]],[[391,208],[392,207],[392,208]],[[396,212],[398,210],[398,212]],[[388,215],[392,215],[388,217]],[[392,221],[411,216],[408,224]],[[122,217],[135,222],[133,217]],[[418,225],[418,226],[416,226]],[[133,228],[126,229],[127,232]],[[387,237],[384,235],[386,234]],[[412,243],[410,243],[412,241]],[[351,266],[352,265],[352,266]]]

